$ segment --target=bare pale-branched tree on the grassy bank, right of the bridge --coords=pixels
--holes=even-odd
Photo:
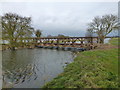
[[[117,16],[112,14],[102,17],[97,16],[88,24],[88,29],[98,35],[99,43],[104,43],[105,37],[113,30],[118,30],[119,27]]]

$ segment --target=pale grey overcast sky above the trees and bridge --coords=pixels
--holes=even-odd
[[[84,36],[87,23],[95,16],[118,14],[117,2],[6,2],[0,15],[8,12],[32,17],[32,24],[43,35]]]

